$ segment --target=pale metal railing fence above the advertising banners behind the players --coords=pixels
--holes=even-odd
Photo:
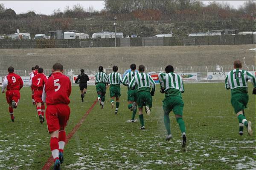
[[[255,71],[255,65],[244,65],[243,66],[244,69],[246,69],[247,71]],[[118,72],[120,72],[121,74],[124,73],[126,70],[128,70],[129,68],[119,68]],[[145,72],[149,73],[149,74],[154,74],[154,73],[160,73],[160,72],[164,72],[163,67],[146,67],[145,68]],[[190,83],[195,83],[195,82],[212,82],[214,80],[209,80],[207,78],[207,73],[208,72],[229,72],[230,70],[233,69],[232,65],[228,65],[228,66],[220,66],[220,65],[215,65],[215,66],[177,66],[174,68],[174,72],[176,73],[198,73],[198,79],[196,81],[189,81]],[[31,70],[15,70],[15,73],[20,75],[20,76],[24,76],[27,77],[29,76],[29,73],[31,72]],[[44,70],[44,74],[45,75],[49,75],[51,74],[51,70],[50,69],[45,69]],[[87,75],[95,75],[98,72],[98,69],[84,69],[84,72]],[[112,72],[112,68],[105,68],[104,72],[106,72],[107,74]],[[0,70],[0,77],[6,76],[8,74],[7,70]],[[80,69],[64,69],[64,74],[69,76],[70,79],[73,78],[73,75],[79,75],[80,74]],[[224,80],[220,80],[221,82]]]

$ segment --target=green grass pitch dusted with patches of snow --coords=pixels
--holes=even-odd
[[[250,91],[252,86],[249,87]],[[173,139],[166,142],[163,124],[164,95],[157,86],[151,115],[144,114],[146,130],[140,123],[127,123],[127,89],[122,86],[119,114],[110,108],[109,90],[105,108],[97,103],[64,150],[63,170],[186,170],[255,169],[255,133],[240,136],[239,122],[230,104],[230,91],[224,83],[185,84],[183,119],[187,130],[187,152],[181,149],[181,134],[174,114],[171,116]],[[249,94],[245,111],[255,132],[255,95]],[[71,115],[67,134],[81,120],[96,99],[95,86],[89,86],[86,102],[81,103],[79,87],[73,86]],[[51,156],[47,124],[39,123],[31,90],[21,90],[21,100],[8,113],[5,95],[0,95],[0,169],[40,170]],[[136,115],[138,119],[138,115]]]

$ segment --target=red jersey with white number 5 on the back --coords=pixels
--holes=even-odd
[[[47,104],[69,104],[71,94],[70,79],[60,72],[52,73],[45,83]]]

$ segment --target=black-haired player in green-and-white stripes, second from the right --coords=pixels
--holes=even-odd
[[[169,113],[174,112],[176,121],[180,126],[181,131],[181,146],[186,147],[186,127],[183,121],[183,107],[184,102],[181,93],[184,92],[183,81],[180,75],[173,73],[173,66],[166,66],[165,73],[160,73],[158,79],[161,86],[161,93],[165,93],[165,99],[163,100],[163,121],[167,130],[166,141],[172,139],[170,129]]]

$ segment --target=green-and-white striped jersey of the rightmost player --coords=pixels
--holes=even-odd
[[[225,85],[226,89],[236,89],[238,87],[247,87],[247,81],[251,80],[253,87],[256,87],[255,76],[243,69],[233,69],[228,72]]]

